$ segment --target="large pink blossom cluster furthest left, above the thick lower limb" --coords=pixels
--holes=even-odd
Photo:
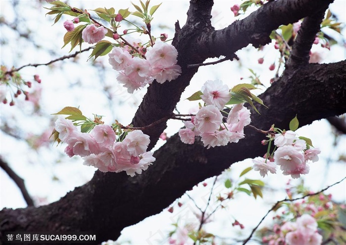
[[[83,133],[63,117],[55,122],[55,130],[59,139],[67,143],[65,153],[68,156],[78,155],[85,165],[97,167],[102,172],[126,171],[133,177],[155,161],[152,152],[146,152],[149,136],[141,130],[131,131],[123,141],[117,141],[109,125],[97,124],[90,134]]]

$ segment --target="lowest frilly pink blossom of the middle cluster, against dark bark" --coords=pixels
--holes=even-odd
[[[215,132],[205,132],[202,133],[201,140],[205,147],[208,146],[207,149],[215,146],[225,146],[231,141],[232,134],[232,132],[226,129],[216,130]]]

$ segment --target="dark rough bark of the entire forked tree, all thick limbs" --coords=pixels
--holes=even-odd
[[[244,20],[215,31],[211,26],[212,0],[191,0],[187,23],[176,24],[173,44],[179,52],[182,74],[173,82],[154,82],[132,120],[134,126],[144,126],[169,117],[180,95],[198,68],[188,64],[203,62],[209,57],[234,57],[234,52],[253,44],[264,45],[269,34],[281,24],[297,22],[303,17],[308,26],[317,26],[332,0],[271,1]],[[307,28],[306,28],[307,29]],[[316,29],[316,28],[315,28]],[[309,29],[310,30],[310,29]],[[318,28],[314,30],[317,32]],[[269,109],[259,106],[252,124],[269,129],[272,123],[288,128],[298,115],[300,125],[346,113],[346,61],[333,64],[308,64],[306,50],[312,36],[304,28],[303,51],[294,47],[285,73],[260,98]],[[203,52],[200,52],[203,50]],[[302,54],[303,58],[299,59]],[[166,121],[145,131],[153,147]],[[239,143],[207,150],[196,138],[186,145],[174,135],[154,154],[155,163],[133,178],[126,173],[97,171],[90,182],[77,187],[58,202],[38,208],[3,209],[0,211],[0,232],[4,231],[88,231],[97,234],[97,243],[116,240],[123,228],[156,214],[179,198],[186,190],[208,177],[220,174],[232,163],[263,155],[260,141],[263,135],[252,128]],[[3,239],[3,237],[1,238]]]

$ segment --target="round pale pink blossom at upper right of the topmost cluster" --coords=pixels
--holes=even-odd
[[[157,42],[146,53],[146,58],[152,67],[170,67],[176,64],[178,51],[172,44]]]

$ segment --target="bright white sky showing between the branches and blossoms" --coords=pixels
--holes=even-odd
[[[161,1],[152,1],[152,4],[158,4]],[[45,16],[46,10],[42,8],[37,1],[23,0],[19,1],[19,12],[13,12],[10,8],[10,1],[1,0],[0,13],[1,16],[9,22],[16,20],[18,14],[26,22],[30,29],[34,30],[32,35],[35,43],[39,43],[43,49],[37,49],[35,43],[28,43],[22,39],[18,39],[15,34],[9,30],[1,29],[1,39],[16,40],[1,45],[1,64],[7,66],[21,66],[28,63],[42,63],[49,61],[51,57],[59,57],[66,55],[69,48],[61,48],[63,45],[64,28],[62,21],[56,25],[52,25],[51,16]],[[69,1],[73,6],[94,9],[100,6],[110,7],[114,1]],[[221,29],[229,25],[235,20],[230,6],[239,1],[215,1],[213,8],[213,25],[216,29]],[[43,6],[48,4],[43,2]],[[117,1],[115,8],[130,7],[130,1]],[[80,7],[82,8],[82,7]],[[133,8],[132,8],[133,9]],[[159,35],[162,32],[168,33],[169,37],[173,37],[173,26],[176,20],[179,20],[180,26],[186,20],[186,12],[188,9],[188,1],[163,1],[158,11],[155,13],[152,23],[154,32]],[[331,5],[331,10],[345,23],[346,2],[336,0]],[[25,31],[25,28],[23,31]],[[343,31],[344,38],[345,30]],[[196,108],[198,105],[193,102],[184,100],[194,92],[200,90],[200,87],[206,81],[220,79],[233,86],[240,81],[250,82],[250,80],[240,80],[250,76],[248,68],[253,69],[260,75],[260,80],[266,86],[269,86],[269,80],[274,72],[268,70],[269,65],[277,60],[278,54],[274,50],[274,43],[269,44],[264,50],[258,52],[252,46],[243,48],[237,52],[241,58],[241,62],[223,62],[214,66],[205,66],[199,69],[198,74],[194,76],[191,85],[183,92],[181,102],[178,103],[179,112],[186,112],[186,108]],[[23,50],[24,47],[24,50]],[[329,52],[325,49],[314,47],[316,51],[322,52],[323,62],[335,62],[346,58],[345,47],[333,46]],[[251,55],[249,55],[251,52]],[[330,55],[333,53],[333,55]],[[20,57],[20,58],[18,58]],[[118,119],[123,124],[130,123],[145,89],[130,95],[121,85],[115,81],[115,71],[108,65],[107,57],[101,57],[98,63],[86,61],[88,54],[83,53],[78,60],[64,61],[54,64],[52,67],[41,66],[38,68],[26,68],[21,71],[25,78],[31,78],[34,74],[39,74],[42,79],[40,84],[42,89],[42,112],[43,115],[35,114],[35,108],[25,102],[18,102],[17,107],[0,106],[1,123],[7,122],[10,125],[20,128],[23,135],[40,134],[43,129],[52,129],[51,116],[61,110],[65,106],[80,106],[83,113],[92,117],[93,113],[104,115],[106,123],[112,123],[114,119]],[[258,58],[264,57],[264,63],[259,65]],[[209,61],[216,59],[211,59]],[[92,69],[90,69],[92,66]],[[98,67],[105,66],[103,72],[97,71]],[[108,67],[107,67],[108,66]],[[52,69],[55,68],[55,69]],[[82,86],[81,86],[82,85]],[[107,88],[107,89],[105,89]],[[104,92],[106,90],[106,93]],[[261,91],[259,91],[260,93]],[[112,106],[109,106],[109,100],[105,94],[111,95]],[[189,113],[189,112],[186,112]],[[165,130],[167,134],[173,135],[183,124],[176,121],[169,121],[168,128]],[[345,164],[336,161],[339,154],[346,150],[346,137],[342,136],[338,139],[336,148],[332,148],[334,138],[331,134],[331,126],[324,120],[314,122],[311,125],[304,126],[297,131],[300,135],[312,139],[314,145],[323,149],[318,163],[310,167],[310,173],[304,176],[304,181],[312,190],[318,191],[327,185],[342,179],[346,173]],[[317,132],[317,133],[316,133]],[[26,142],[14,139],[3,132],[0,134],[0,151],[11,167],[25,179],[25,183],[29,193],[35,197],[36,201],[46,204],[59,200],[66,192],[72,191],[75,187],[86,183],[93,175],[95,169],[84,166],[80,159],[68,159],[63,155],[63,146],[48,144],[47,147],[33,151]],[[160,140],[156,149],[162,145],[164,141]],[[246,160],[232,165],[230,171],[226,171],[219,177],[215,187],[215,192],[224,191],[223,181],[227,178],[236,179],[239,173],[251,166],[251,161]],[[257,172],[249,173],[248,177],[261,178]],[[277,189],[283,189],[285,183],[289,179],[288,176],[281,174],[270,175],[264,181],[275,183]],[[189,192],[196,203],[200,205],[206,204],[210,187],[214,179],[206,180],[207,187],[201,184],[199,187]],[[316,181],[320,180],[320,181]],[[296,181],[298,183],[298,181]],[[21,197],[17,187],[8,178],[8,176],[0,171],[0,208],[2,207],[25,207],[26,204]],[[346,184],[343,182],[330,190],[333,197],[338,202],[345,202]],[[224,238],[237,238],[240,230],[233,228],[230,224],[234,221],[234,217],[245,224],[244,236],[255,226],[268,208],[277,200],[285,198],[283,192],[264,194],[263,200],[255,200],[246,195],[239,196],[232,201],[226,210],[216,212],[213,217],[217,222],[207,224],[210,232],[215,232],[218,236]],[[180,222],[196,222],[192,212],[196,212],[196,208],[189,198],[185,195],[180,202],[183,206],[175,208],[173,213],[163,210],[158,215],[149,217],[134,226],[124,229],[119,242],[124,244],[131,241],[133,244],[160,244],[165,243],[167,234],[173,230],[172,223]],[[245,209],[239,206],[243,203],[249,204],[252,208]],[[176,206],[176,205],[175,205]],[[260,210],[254,207],[262,207]],[[236,211],[234,211],[236,210]],[[192,212],[191,212],[192,211]],[[178,218],[180,217],[180,218]],[[249,218],[251,217],[251,218]],[[133,236],[136,234],[136,236]]]

